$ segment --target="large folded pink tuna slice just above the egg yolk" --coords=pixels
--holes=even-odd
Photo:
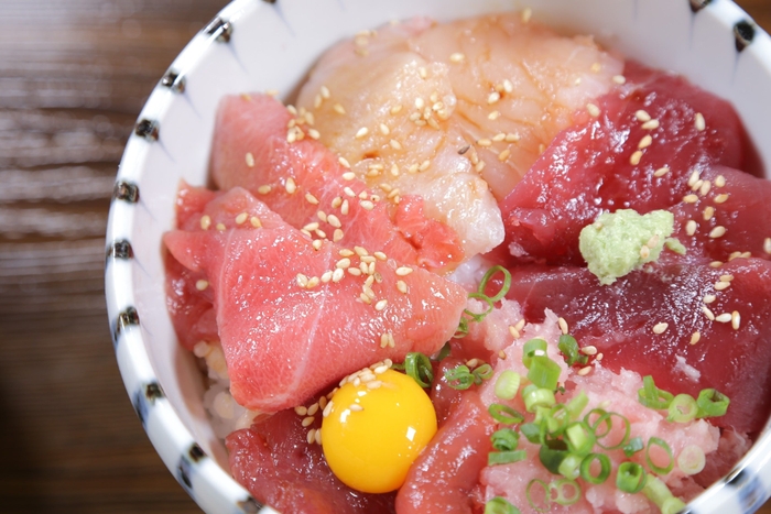
[[[438,275],[316,248],[242,188],[204,214],[206,230],[175,230],[164,243],[208,282],[231,393],[247,408],[292,407],[373,362],[432,354],[457,328],[466,293]]]

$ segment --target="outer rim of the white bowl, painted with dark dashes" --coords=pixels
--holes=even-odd
[[[754,36],[765,40],[771,47],[768,33],[731,0],[685,0],[694,6],[719,6],[732,11],[734,18],[745,20],[754,30]],[[275,513],[240,485],[232,475],[206,455],[185,426],[175,408],[165,397],[141,332],[133,291],[133,250],[130,234],[133,228],[131,207],[139,201],[139,186],[133,177],[141,176],[144,163],[144,146],[158,139],[156,120],[162,119],[175,94],[185,87],[185,73],[200,64],[207,50],[218,43],[227,43],[239,19],[275,0],[257,3],[253,0],[232,0],[202,29],[173,61],[167,72],[154,87],[142,108],[134,129],[129,136],[116,178],[110,204],[106,236],[105,292],[108,319],[113,349],[121,376],[148,437],[161,456],[170,472],[206,512],[221,512],[227,505],[232,512]],[[729,25],[726,18],[717,18],[723,29],[731,31],[739,44],[738,24]],[[771,67],[771,55],[768,56]],[[155,120],[155,121],[153,121]],[[771,172],[771,169],[769,169]],[[688,503],[686,512],[720,512],[736,505],[739,496],[745,512],[753,512],[771,497],[771,485],[758,480],[762,473],[771,475],[771,420],[747,455],[702,494]],[[195,472],[191,470],[195,468]],[[726,511],[727,512],[727,511]]]

